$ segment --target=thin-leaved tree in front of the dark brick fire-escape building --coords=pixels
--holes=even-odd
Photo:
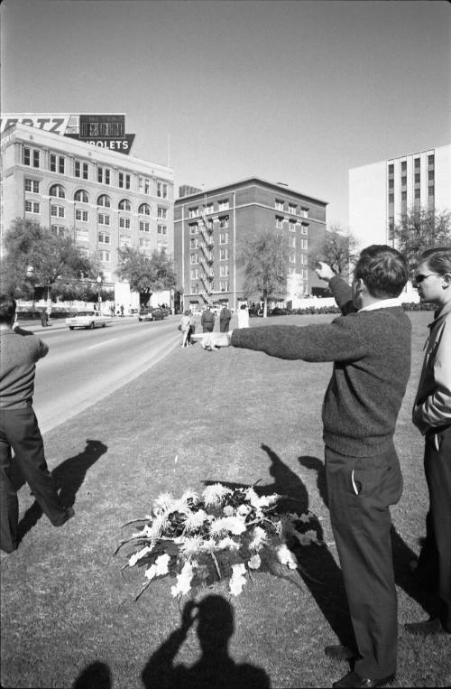
[[[286,295],[287,254],[283,235],[272,230],[244,237],[238,248],[236,262],[244,266],[244,293],[247,298],[262,294],[263,317],[268,312],[268,299]]]

